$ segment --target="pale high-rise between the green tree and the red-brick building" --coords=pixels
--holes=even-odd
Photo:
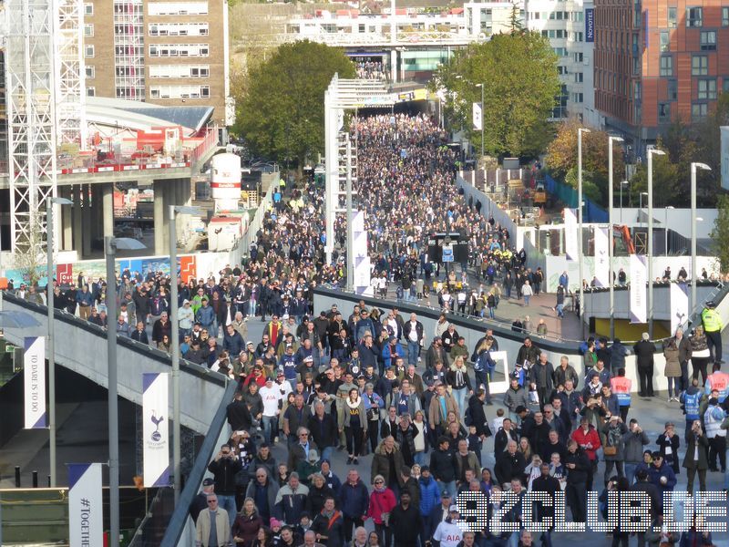
[[[600,125],[592,93],[592,0],[528,0],[526,12],[529,30],[548,38],[559,57],[562,91],[552,118]]]

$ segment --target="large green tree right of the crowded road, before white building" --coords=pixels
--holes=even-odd
[[[549,41],[515,26],[510,34],[457,51],[436,71],[431,87],[447,90],[447,119],[467,130],[477,150],[481,131],[473,129],[471,105],[481,101],[481,83],[485,151],[515,157],[533,151],[531,139],[549,131],[547,119],[560,92],[557,56]]]

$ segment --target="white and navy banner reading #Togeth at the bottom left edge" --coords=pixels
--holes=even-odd
[[[68,539],[70,547],[104,544],[100,463],[68,465]]]

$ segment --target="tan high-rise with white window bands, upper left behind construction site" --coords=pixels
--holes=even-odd
[[[89,96],[212,106],[213,120],[230,125],[228,54],[227,0],[84,4]]]

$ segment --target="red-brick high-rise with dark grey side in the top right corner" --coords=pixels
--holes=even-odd
[[[595,0],[595,104],[636,154],[676,117],[703,119],[722,90],[726,0]]]

